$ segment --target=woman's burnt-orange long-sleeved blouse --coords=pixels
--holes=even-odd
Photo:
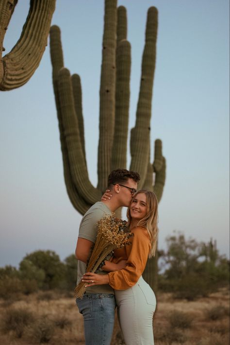
[[[148,253],[151,247],[147,229],[138,226],[131,232],[134,234],[131,245],[125,246],[126,256],[128,258],[126,267],[120,271],[109,273],[109,285],[115,290],[126,290],[135,285],[147,263]]]

